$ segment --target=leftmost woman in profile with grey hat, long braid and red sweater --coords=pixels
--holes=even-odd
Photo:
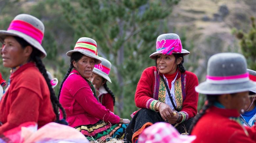
[[[37,122],[38,128],[60,120],[58,107],[65,111],[52,89],[41,58],[43,23],[34,16],[19,14],[7,31],[0,31],[4,67],[11,68],[5,94],[0,102],[0,134],[24,122]],[[64,123],[64,122],[63,122]]]

